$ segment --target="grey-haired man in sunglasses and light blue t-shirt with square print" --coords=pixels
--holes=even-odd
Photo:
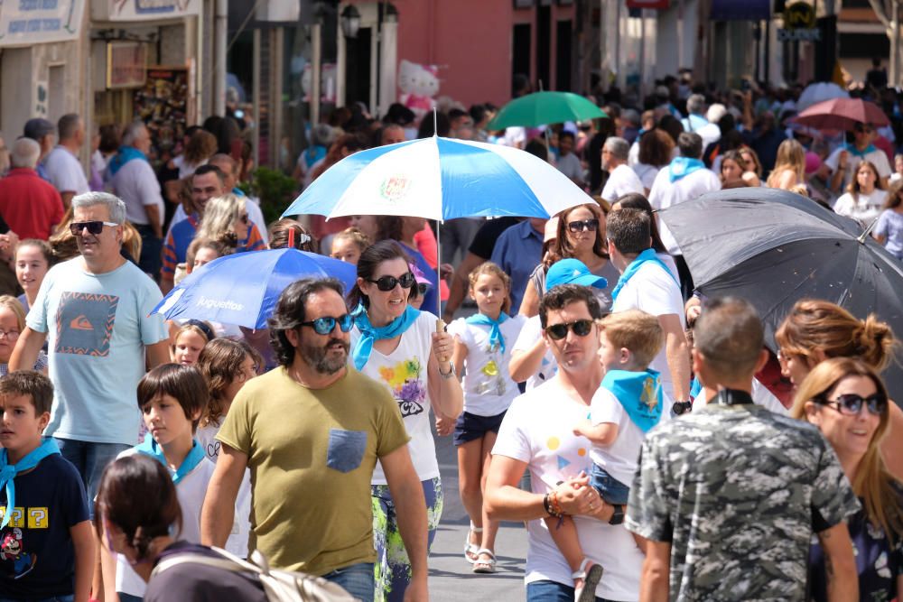
[[[31,369],[50,337],[53,413],[45,434],[93,500],[107,463],[138,442],[135,390],[144,367],[169,361],[162,295],[120,254],[126,205],[106,192],[72,199],[80,255],[54,265],[28,312],[9,370]]]

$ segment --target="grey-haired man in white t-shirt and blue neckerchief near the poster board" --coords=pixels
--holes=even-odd
[[[135,121],[126,128],[122,146],[107,164],[113,191],[126,203],[126,218],[141,235],[138,267],[154,280],[160,277],[163,254],[163,196],[154,168],[147,159],[151,134],[144,123]]]

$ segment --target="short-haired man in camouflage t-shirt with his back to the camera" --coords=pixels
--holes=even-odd
[[[696,375],[717,392],[647,434],[626,525],[647,540],[642,602],[802,600],[815,529],[827,599],[859,599],[846,519],[860,504],[814,426],[753,403],[768,361],[756,310],[712,299],[694,325]]]

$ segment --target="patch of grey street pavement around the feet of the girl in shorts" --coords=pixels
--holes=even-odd
[[[452,437],[436,437],[442,472],[445,509],[430,556],[430,596],[435,602],[524,599],[526,531],[521,523],[504,523],[498,530],[498,572],[475,575],[464,560],[469,519],[458,495],[458,465]]]

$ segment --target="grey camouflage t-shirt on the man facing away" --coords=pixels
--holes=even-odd
[[[671,600],[802,600],[814,520],[860,508],[813,425],[753,404],[660,424],[638,466],[626,524],[671,542]]]

